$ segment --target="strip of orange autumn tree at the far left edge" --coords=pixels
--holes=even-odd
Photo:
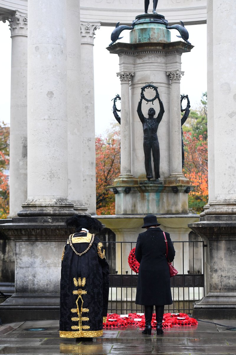
[[[10,128],[0,123],[0,218],[6,218],[9,214],[9,136]]]

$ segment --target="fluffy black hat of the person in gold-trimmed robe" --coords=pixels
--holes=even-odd
[[[90,233],[98,233],[103,229],[102,223],[86,214],[75,214],[65,221],[67,227],[75,227],[76,232],[80,232],[82,228],[86,228]]]

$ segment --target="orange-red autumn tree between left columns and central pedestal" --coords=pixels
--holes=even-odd
[[[120,132],[116,124],[106,138],[96,137],[97,214],[115,214],[115,195],[108,186],[120,174]]]

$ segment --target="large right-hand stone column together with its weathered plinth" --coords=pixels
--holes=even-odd
[[[236,16],[234,1],[208,0],[208,174],[209,202],[189,226],[205,244],[205,297],[194,316],[236,317],[236,39],[225,26]]]

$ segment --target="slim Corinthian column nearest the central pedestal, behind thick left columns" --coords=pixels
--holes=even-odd
[[[96,214],[93,40],[98,28],[100,23],[81,23],[83,196],[91,214]]]

